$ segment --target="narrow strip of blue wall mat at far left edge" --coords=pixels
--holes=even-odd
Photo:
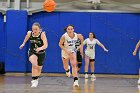
[[[0,43],[0,62],[5,62],[5,25],[4,25],[4,20],[3,20],[3,15],[0,13],[0,38],[1,38],[1,43]]]

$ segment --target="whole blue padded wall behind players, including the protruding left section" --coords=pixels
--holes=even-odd
[[[31,64],[27,59],[29,45],[23,50],[18,47],[27,30],[31,30],[32,24],[39,22],[49,43],[43,72],[65,72],[58,43],[64,34],[64,27],[73,24],[75,32],[83,34],[84,38],[88,38],[89,32],[94,32],[97,39],[109,49],[105,53],[101,47],[96,46],[95,73],[138,74],[138,56],[134,57],[132,52],[140,36],[139,14],[40,12],[27,16],[26,11],[8,11],[6,15],[6,71],[31,71]],[[0,20],[3,21],[1,15]],[[0,23],[0,27],[2,25]],[[84,72],[84,60],[81,72]]]

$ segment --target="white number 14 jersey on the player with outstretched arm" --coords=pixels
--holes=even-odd
[[[95,51],[95,45],[100,44],[100,42],[97,39],[93,39],[92,41],[87,38],[84,40],[84,44],[86,44],[86,51],[94,52]]]

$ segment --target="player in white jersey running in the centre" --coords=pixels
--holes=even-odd
[[[76,60],[76,49],[75,43],[77,42],[78,38],[83,42],[82,36],[74,32],[74,26],[68,25],[66,27],[66,33],[62,35],[59,46],[62,49],[62,61],[63,66],[66,71],[66,75],[70,77],[70,66],[69,60],[72,66],[72,75],[74,77],[74,84],[73,86],[79,86],[78,84],[78,74],[77,74],[77,60]],[[82,46],[82,44],[81,44]],[[79,46],[79,47],[81,47]]]

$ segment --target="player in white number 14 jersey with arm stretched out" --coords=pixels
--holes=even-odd
[[[94,75],[94,61],[95,61],[95,45],[98,44],[101,46],[104,51],[108,52],[108,50],[104,47],[102,43],[96,39],[94,33],[89,33],[89,38],[84,40],[84,45],[86,44],[85,49],[85,79],[88,78],[88,66],[90,64],[91,68],[91,80],[94,80],[96,77]]]

